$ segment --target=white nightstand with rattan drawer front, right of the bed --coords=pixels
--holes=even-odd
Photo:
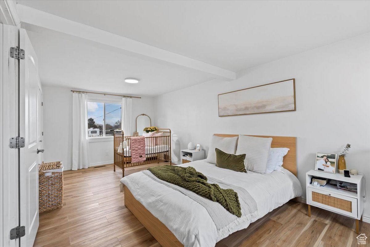
[[[311,207],[319,207],[337,214],[342,214],[356,219],[356,233],[359,232],[359,220],[362,221],[364,211],[364,177],[362,175],[350,175],[344,177],[343,174],[325,173],[322,171],[310,170],[306,173],[306,198],[308,205],[308,216],[311,217]],[[325,186],[314,187],[311,184],[312,177],[329,178],[332,180],[344,181],[357,184],[357,194],[338,190],[337,186],[332,186],[329,182]]]

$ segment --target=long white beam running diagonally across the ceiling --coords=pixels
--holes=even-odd
[[[222,78],[228,81],[236,79],[234,71],[222,69],[202,61],[191,59],[171,51],[149,46],[117,34],[90,27],[75,21],[55,16],[44,11],[36,10],[21,4],[17,4],[20,21],[27,27],[41,27],[43,30],[53,30],[69,36],[75,36],[100,44],[100,47],[109,46],[114,49],[126,51],[130,56],[141,59],[156,61],[159,63],[172,64],[187,69],[198,70],[211,75],[214,78]],[[28,25],[27,25],[28,24]]]

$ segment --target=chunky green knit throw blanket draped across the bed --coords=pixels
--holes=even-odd
[[[194,167],[155,166],[148,168],[161,180],[191,190],[222,205],[230,213],[242,216],[238,193],[232,189],[222,189],[218,184],[207,183],[207,177]]]

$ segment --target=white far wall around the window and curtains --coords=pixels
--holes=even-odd
[[[89,95],[91,100],[121,102],[118,96]],[[63,160],[65,170],[72,168],[72,93],[70,88],[43,86],[44,162]],[[132,131],[135,118],[145,113],[155,119],[153,97],[132,99]],[[90,166],[113,163],[113,139],[90,140]],[[108,155],[106,152],[108,151]]]

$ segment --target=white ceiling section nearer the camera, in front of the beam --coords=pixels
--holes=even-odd
[[[370,31],[370,1],[18,2],[231,71]]]

